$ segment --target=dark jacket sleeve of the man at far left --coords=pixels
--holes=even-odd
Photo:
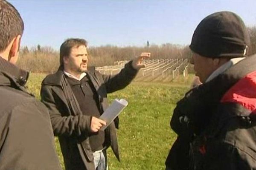
[[[61,170],[47,108],[39,102],[15,106],[7,119],[1,170]],[[3,137],[3,136],[2,136]]]

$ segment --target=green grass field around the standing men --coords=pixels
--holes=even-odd
[[[41,81],[45,74],[31,74],[28,89],[40,99]],[[126,99],[128,107],[119,116],[118,142],[121,162],[108,149],[109,170],[164,170],[165,159],[176,135],[170,119],[176,102],[189,89],[192,75],[186,82],[133,82],[127,88],[109,94],[113,99]],[[57,152],[64,169],[58,139]]]

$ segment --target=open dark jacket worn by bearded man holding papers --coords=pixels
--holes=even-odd
[[[103,113],[108,108],[107,94],[125,88],[137,74],[131,62],[115,76],[102,75],[94,68],[87,71],[95,90]],[[89,142],[91,116],[81,113],[73,91],[61,69],[55,74],[48,75],[42,82],[42,102],[49,109],[53,132],[58,136],[64,157],[66,170],[94,170],[93,154]],[[116,125],[115,125],[116,124]],[[105,143],[111,146],[116,158],[119,152],[115,124],[105,130]]]

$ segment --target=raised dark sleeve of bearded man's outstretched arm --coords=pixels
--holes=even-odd
[[[131,62],[132,61],[125,64],[125,68],[123,68],[119,74],[113,76],[102,75],[107,93],[112,93],[114,91],[125,88],[135,78],[138,70],[132,67]]]

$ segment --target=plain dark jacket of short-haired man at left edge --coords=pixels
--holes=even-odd
[[[0,57],[0,170],[61,170],[49,112],[26,92],[27,77]]]

